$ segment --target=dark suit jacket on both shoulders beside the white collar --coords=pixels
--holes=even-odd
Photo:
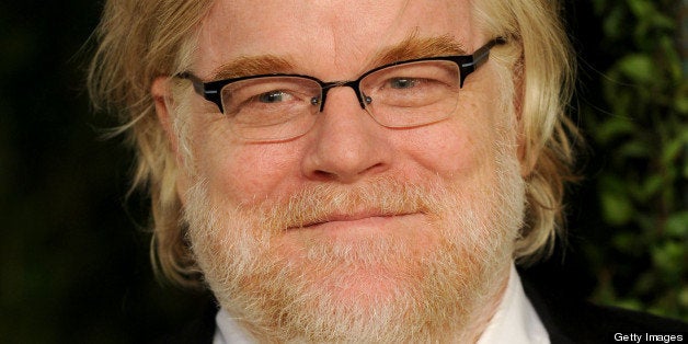
[[[688,323],[562,297],[536,286],[523,274],[521,280],[553,344],[615,343],[615,333],[677,333],[688,343]],[[216,302],[209,302],[200,319],[160,343],[211,343],[216,313]]]

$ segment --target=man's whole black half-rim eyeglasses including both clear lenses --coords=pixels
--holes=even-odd
[[[286,140],[313,126],[334,88],[352,88],[358,103],[378,124],[408,128],[449,117],[463,81],[504,44],[490,41],[471,55],[427,57],[385,65],[352,81],[324,82],[301,74],[260,74],[203,82],[191,72],[194,90],[219,107],[231,130],[251,141]]]

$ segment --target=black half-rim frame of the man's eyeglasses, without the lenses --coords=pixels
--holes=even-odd
[[[290,74],[290,73],[255,74],[255,76],[245,76],[245,77],[222,79],[222,80],[216,80],[216,81],[209,81],[209,82],[204,82],[203,80],[200,80],[200,78],[196,77],[195,74],[188,71],[179,73],[175,77],[190,80],[194,85],[194,91],[198,93],[199,95],[202,95],[205,100],[215,103],[221,113],[225,113],[225,110],[222,106],[222,98],[221,98],[222,88],[225,88],[226,85],[230,83],[242,81],[242,80],[267,78],[267,77],[297,77],[297,78],[303,78],[303,79],[316,81],[322,90],[321,92],[322,98],[320,100],[313,99],[313,105],[320,104],[319,112],[322,112],[324,107],[325,99],[328,96],[328,92],[330,91],[330,89],[339,88],[339,87],[349,87],[354,90],[354,92],[356,92],[356,96],[358,98],[358,103],[360,104],[360,107],[365,110],[366,104],[370,104],[372,100],[369,96],[365,96],[363,92],[360,92],[360,81],[365,79],[367,76],[378,70],[389,68],[389,67],[405,65],[405,64],[420,62],[420,61],[437,61],[437,60],[452,61],[457,64],[457,66],[459,67],[459,78],[460,78],[459,88],[463,88],[463,81],[466,80],[466,78],[469,74],[471,74],[473,71],[475,71],[485,61],[488,61],[488,57],[490,56],[490,49],[492,49],[495,45],[502,45],[505,43],[506,43],[506,39],[502,37],[497,37],[495,39],[488,42],[485,45],[478,48],[471,55],[434,56],[434,57],[423,57],[423,58],[397,61],[397,62],[392,62],[392,64],[388,64],[388,65],[383,65],[383,66],[379,66],[374,69],[370,69],[366,71],[365,73],[363,73],[360,77],[358,77],[358,79],[348,80],[348,81],[325,82],[316,77],[305,76],[305,74]]]

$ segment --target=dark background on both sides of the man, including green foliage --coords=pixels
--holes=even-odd
[[[534,271],[574,295],[688,320],[686,5],[612,2],[566,5],[587,177],[570,187],[565,254]],[[116,122],[89,105],[88,42],[101,7],[0,3],[2,343],[147,342],[204,306],[154,279],[148,199],[125,196],[131,151],[103,138]]]

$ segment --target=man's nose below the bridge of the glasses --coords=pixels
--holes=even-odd
[[[362,108],[351,88],[330,90],[319,116],[302,162],[308,179],[354,183],[389,169],[390,129]]]

